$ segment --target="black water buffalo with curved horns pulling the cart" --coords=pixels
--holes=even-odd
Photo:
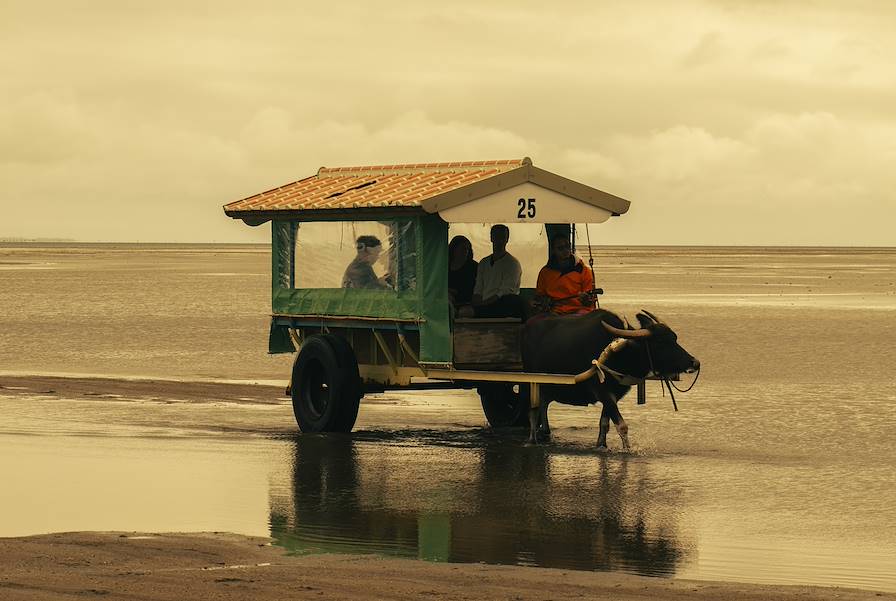
[[[527,372],[578,374],[591,368],[594,359],[608,368],[603,372],[605,377],[595,373],[574,386],[542,385],[540,407],[530,411],[530,442],[537,442],[539,432],[550,435],[547,408],[551,401],[570,405],[600,402],[597,446],[606,448],[613,420],[623,448],[628,449],[628,426],[619,413],[619,399],[648,375],[672,376],[700,369],[700,362],[678,344],[669,326],[648,311],[642,310],[637,318],[641,327],[631,329],[616,314],[598,309],[526,324],[522,353]]]

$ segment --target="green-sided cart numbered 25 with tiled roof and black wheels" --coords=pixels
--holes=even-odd
[[[449,236],[482,224],[508,224],[512,232],[524,224],[528,238],[511,235],[509,249],[518,258],[534,253],[540,265],[548,238],[565,233],[574,247],[575,223],[603,223],[628,208],[627,200],[524,158],[321,168],[224,211],[251,226],[272,224],[269,351],[297,352],[289,391],[299,428],[349,432],[365,392],[475,388],[488,422],[500,427],[527,423],[540,386],[592,377],[599,366],[578,374],[524,371],[519,319],[456,318]],[[344,274],[362,238],[382,245],[374,266],[382,275],[359,287]],[[643,382],[639,393],[641,402]]]

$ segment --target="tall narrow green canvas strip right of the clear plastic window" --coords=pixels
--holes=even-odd
[[[448,307],[448,224],[438,214],[420,218],[417,290],[423,319],[420,324],[420,361],[451,361]]]

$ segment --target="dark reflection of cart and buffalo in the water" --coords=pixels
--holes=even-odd
[[[488,431],[300,436],[271,485],[271,536],[293,552],[619,569],[672,576],[676,499],[637,457],[524,447]],[[674,496],[674,495],[673,495]]]

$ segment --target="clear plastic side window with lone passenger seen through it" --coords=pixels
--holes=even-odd
[[[293,287],[414,290],[414,231],[411,221],[300,223]]]

